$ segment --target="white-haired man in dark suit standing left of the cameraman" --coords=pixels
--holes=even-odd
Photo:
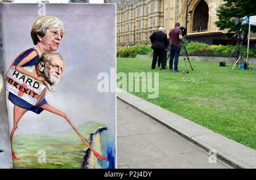
[[[153,32],[150,36],[150,41],[152,42],[151,48],[154,49],[151,65],[152,69],[155,68],[158,57],[160,59],[162,69],[166,68],[164,65],[164,54],[169,45],[169,40],[167,40],[167,35],[166,33],[163,33],[163,31],[164,28],[160,27],[158,32]]]

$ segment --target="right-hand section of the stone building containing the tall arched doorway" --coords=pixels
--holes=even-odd
[[[174,28],[175,22],[180,22],[181,25],[187,27],[189,41],[217,45],[232,44],[232,35],[220,31],[214,24],[217,20],[217,7],[223,3],[222,0],[166,0],[164,3],[164,27],[169,31]],[[227,41],[228,38],[230,42]]]

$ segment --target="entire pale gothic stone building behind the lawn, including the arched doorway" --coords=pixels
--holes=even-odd
[[[216,10],[224,3],[222,0],[105,0],[105,3],[117,3],[118,48],[151,45],[152,32],[163,26],[168,33],[176,22],[187,27],[189,41],[216,45],[236,42],[232,33],[220,31],[214,24]]]

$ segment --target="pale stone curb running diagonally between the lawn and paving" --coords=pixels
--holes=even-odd
[[[256,151],[117,88],[117,98],[234,168],[256,168]]]

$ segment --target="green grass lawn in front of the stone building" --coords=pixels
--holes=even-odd
[[[178,66],[181,72],[159,71],[159,67],[151,70],[151,62],[117,58],[117,72],[159,72],[158,98],[148,98],[148,92],[131,93],[256,149],[255,71],[232,70],[231,63],[220,67],[219,63],[191,61],[192,71],[187,61],[189,74],[183,75],[183,60]]]

